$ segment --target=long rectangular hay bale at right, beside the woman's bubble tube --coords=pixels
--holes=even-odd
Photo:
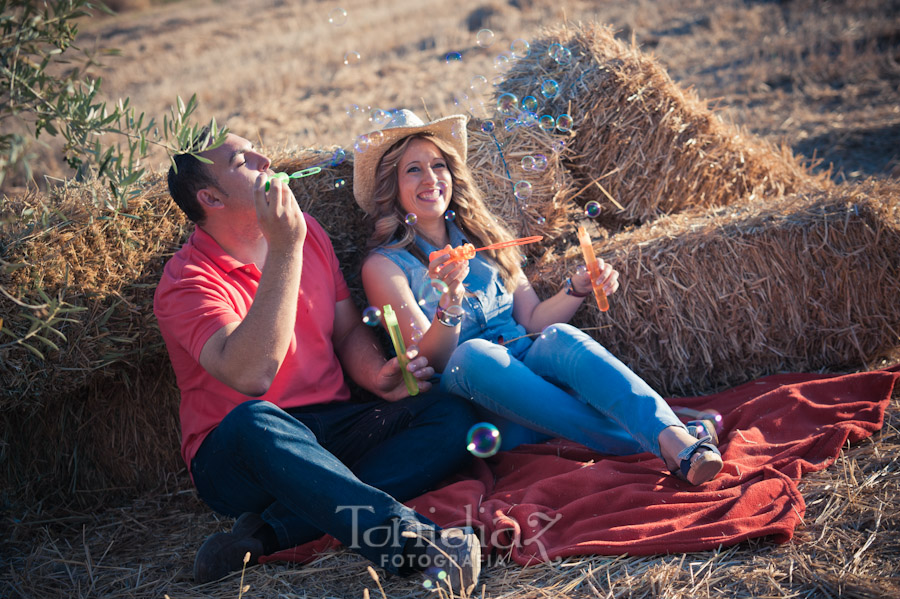
[[[900,183],[685,212],[597,244],[621,274],[573,321],[666,395],[900,347]],[[578,248],[543,265],[559,278]]]

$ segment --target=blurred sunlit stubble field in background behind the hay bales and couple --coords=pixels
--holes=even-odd
[[[497,81],[496,58],[515,40],[597,21],[655,55],[723,119],[832,168],[838,181],[900,175],[898,0],[110,4],[121,12],[86,20],[80,38],[101,57],[92,74],[110,101],[129,97],[161,120],[177,96],[196,93],[201,120],[270,148],[352,147],[379,108],[485,116],[502,85],[473,89],[473,80]],[[479,43],[482,29],[490,44]],[[66,174],[52,148],[37,171],[38,182]]]

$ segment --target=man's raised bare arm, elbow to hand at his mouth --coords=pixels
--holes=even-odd
[[[241,322],[212,334],[200,352],[200,365],[245,395],[264,394],[290,347],[297,318],[306,221],[286,185],[268,193],[264,178],[254,193],[260,228],[267,241],[265,266],[250,310]]]

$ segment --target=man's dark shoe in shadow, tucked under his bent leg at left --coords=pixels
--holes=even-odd
[[[244,557],[250,553],[248,566],[254,566],[264,554],[263,542],[253,536],[266,523],[257,514],[246,513],[234,523],[231,532],[211,535],[194,559],[194,580],[204,584],[219,580],[244,567]]]

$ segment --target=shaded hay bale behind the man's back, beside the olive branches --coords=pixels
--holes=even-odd
[[[99,206],[103,194],[70,184],[6,205],[32,215],[9,219],[0,242],[0,487],[23,501],[155,488],[182,468],[152,302],[190,227],[159,175],[127,209]],[[54,314],[58,333],[35,328]]]

